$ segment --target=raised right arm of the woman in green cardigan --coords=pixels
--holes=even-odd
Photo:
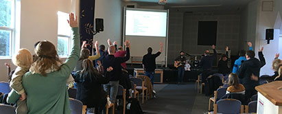
[[[73,71],[76,62],[78,62],[78,58],[80,57],[80,35],[78,33],[78,21],[77,18],[74,17],[73,13],[69,14],[68,22],[71,26],[71,30],[73,30],[73,47],[71,48],[71,55],[60,67],[60,73],[62,73],[62,76],[65,76],[66,79],[69,78],[69,74],[71,71]]]

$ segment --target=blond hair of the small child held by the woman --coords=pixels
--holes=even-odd
[[[25,48],[19,49],[19,52],[13,56],[12,62],[18,67],[30,69],[30,65],[32,65],[32,53]]]

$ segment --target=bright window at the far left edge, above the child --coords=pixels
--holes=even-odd
[[[0,57],[12,56],[15,0],[0,0]]]

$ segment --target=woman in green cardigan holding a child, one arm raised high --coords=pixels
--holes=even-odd
[[[27,94],[27,109],[29,114],[52,113],[69,114],[69,95],[66,82],[80,56],[80,36],[78,21],[74,14],[69,14],[69,25],[73,30],[73,47],[71,55],[62,65],[58,59],[56,47],[49,41],[41,41],[35,54],[38,59],[32,64],[30,71],[23,76],[23,88]],[[19,100],[19,95],[12,91],[8,102]]]

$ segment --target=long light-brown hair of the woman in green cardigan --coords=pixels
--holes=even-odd
[[[46,70],[48,69],[60,69],[60,60],[56,51],[56,47],[49,41],[40,41],[34,52],[37,59],[30,67],[33,73],[40,73],[46,76]]]

